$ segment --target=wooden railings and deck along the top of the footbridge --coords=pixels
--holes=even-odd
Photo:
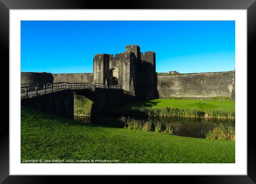
[[[46,94],[46,93],[51,93],[53,91],[62,91],[62,90],[90,89],[94,91],[95,88],[121,89],[121,85],[109,86],[102,83],[70,83],[70,82],[55,82],[55,83],[45,83],[45,84],[24,83],[24,84],[21,84],[20,93],[21,93],[21,98],[23,98],[23,97],[28,97],[32,95]]]

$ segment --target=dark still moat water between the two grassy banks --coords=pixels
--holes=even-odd
[[[85,116],[74,116],[75,121],[84,123],[100,124],[104,126],[122,127],[118,123],[113,123],[118,117],[90,118]],[[113,121],[112,121],[113,120]],[[142,119],[142,121],[161,122],[162,129],[166,129],[166,123],[171,123],[173,135],[183,137],[205,138],[205,133],[214,129],[218,124],[223,124],[227,128],[235,129],[235,120],[217,120],[217,119],[195,119],[195,118],[176,118],[176,117],[157,117]]]

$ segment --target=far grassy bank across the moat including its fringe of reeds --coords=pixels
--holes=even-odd
[[[218,100],[154,99],[126,103],[112,114],[139,117],[192,117],[235,119],[235,103]]]

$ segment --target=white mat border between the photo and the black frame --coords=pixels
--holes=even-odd
[[[235,20],[235,164],[21,164],[21,20]],[[152,35],[153,36],[153,35]],[[247,175],[247,10],[10,10],[10,175]]]

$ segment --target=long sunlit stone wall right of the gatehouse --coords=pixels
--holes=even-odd
[[[159,98],[231,97],[235,71],[191,73],[157,77]],[[235,94],[235,91],[233,91]]]

